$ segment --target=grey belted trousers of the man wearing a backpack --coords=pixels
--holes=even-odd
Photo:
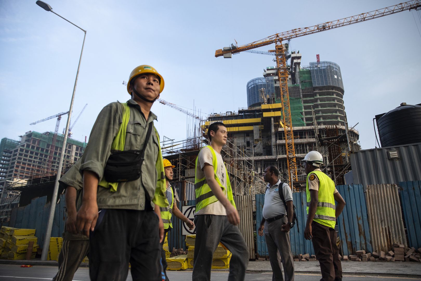
[[[281,230],[281,226],[288,222],[287,217],[273,222],[264,223],[264,233],[269,252],[270,265],[272,266],[272,281],[282,281],[282,270],[277,252],[279,251],[284,267],[285,281],[294,280],[294,262],[291,253],[290,233]]]

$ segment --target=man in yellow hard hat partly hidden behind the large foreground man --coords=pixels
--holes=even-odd
[[[191,221],[188,217],[184,216],[183,213],[179,210],[177,207],[177,202],[180,202],[179,195],[177,194],[177,191],[171,186],[170,181],[173,180],[173,168],[176,166],[172,165],[171,162],[168,159],[163,159],[164,163],[164,171],[165,171],[165,181],[166,181],[166,187],[167,187],[167,200],[168,200],[168,206],[161,207],[161,218],[164,223],[164,238],[165,235],[168,233],[168,231],[173,228],[173,224],[171,221],[172,215],[175,215],[179,219],[181,219],[183,222],[186,223],[187,227],[189,227],[190,230],[195,228],[195,223]],[[161,242],[161,246],[164,245],[164,240]],[[162,266],[165,274],[165,280],[168,281],[167,276],[167,261],[165,260],[165,250],[161,247],[161,258],[162,258]]]

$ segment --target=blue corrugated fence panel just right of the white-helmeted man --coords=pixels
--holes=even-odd
[[[346,202],[337,219],[343,254],[355,254],[358,250],[372,252],[363,186],[338,185],[336,189]]]

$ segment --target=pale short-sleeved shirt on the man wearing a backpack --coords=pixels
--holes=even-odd
[[[287,214],[284,202],[282,202],[281,196],[279,195],[280,192],[283,193],[285,202],[293,200],[291,188],[289,185],[284,182],[282,187],[279,187],[280,183],[281,181],[278,180],[276,184],[272,186],[268,184],[266,186],[262,213],[265,219]]]

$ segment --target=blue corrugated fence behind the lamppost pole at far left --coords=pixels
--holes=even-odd
[[[54,213],[53,228],[51,237],[61,237],[65,220],[64,194],[59,195],[59,203]],[[10,221],[11,227],[36,229],[35,236],[40,248],[44,246],[45,230],[47,229],[48,216],[50,214],[50,202],[47,203],[47,196],[32,199],[31,203],[24,207],[14,208]]]

